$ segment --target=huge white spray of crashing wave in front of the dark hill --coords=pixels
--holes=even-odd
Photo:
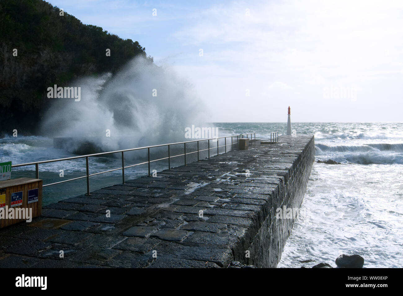
[[[54,99],[42,122],[43,135],[73,137],[113,151],[185,141],[186,127],[208,126],[206,108],[191,83],[144,58],[115,75],[83,77],[72,85],[81,87],[81,100]]]

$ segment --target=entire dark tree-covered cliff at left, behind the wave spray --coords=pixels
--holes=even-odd
[[[106,56],[106,49],[110,56]],[[17,49],[17,56],[14,56]],[[50,106],[47,88],[75,77],[116,72],[137,55],[137,41],[123,40],[42,0],[0,3],[0,136],[17,129],[36,134]],[[150,62],[152,58],[149,57]]]

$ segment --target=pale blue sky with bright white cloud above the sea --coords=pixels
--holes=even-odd
[[[212,122],[403,121],[401,0],[49,2],[139,41]]]

